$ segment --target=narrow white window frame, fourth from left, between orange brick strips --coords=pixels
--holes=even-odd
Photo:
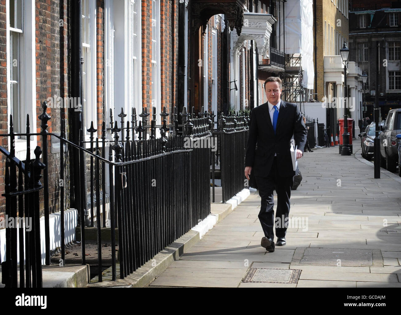
[[[151,34],[151,42],[156,42],[156,56],[154,55],[154,52],[152,51],[152,68],[153,65],[156,65],[156,80],[153,78],[153,69],[151,71],[151,77],[152,77],[152,86],[151,90],[155,92],[156,98],[154,95],[152,95],[152,107],[156,107],[156,124],[160,125],[162,120],[160,116],[160,112],[162,111],[161,108],[161,74],[160,74],[160,1],[159,0],[152,0],[152,2],[156,3],[156,12],[153,14],[152,12],[152,18],[151,21],[156,23],[156,34]],[[151,26],[152,30],[152,26]],[[154,36],[156,35],[156,36]],[[155,39],[156,38],[156,39]],[[151,46],[152,47],[152,46]],[[153,84],[155,85],[153,88]],[[152,92],[153,93],[153,92]],[[168,121],[168,118],[166,118]],[[156,138],[160,138],[160,133],[156,132]]]

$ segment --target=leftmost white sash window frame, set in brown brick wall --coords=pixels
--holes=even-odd
[[[22,34],[20,36],[20,132],[26,132],[26,115],[29,114],[30,132],[36,132],[37,112],[36,112],[36,62],[35,62],[35,4],[32,2],[22,1],[22,29],[10,28],[10,2],[6,1],[6,54],[7,54],[7,127],[10,130],[10,113],[11,113],[11,67],[10,63],[10,32],[17,31]],[[13,117],[13,121],[15,118]],[[16,131],[14,131],[16,132]],[[11,142],[8,138],[8,148],[10,150]],[[34,157],[34,149],[37,146],[37,137],[30,137],[30,157]],[[20,137],[15,138],[14,142],[15,156],[22,160],[26,159],[26,139]]]

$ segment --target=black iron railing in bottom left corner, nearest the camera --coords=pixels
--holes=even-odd
[[[26,128],[29,132],[29,116]],[[36,134],[37,135],[37,134]],[[2,283],[6,287],[18,286],[18,269],[20,287],[42,287],[42,254],[39,213],[39,191],[43,189],[40,182],[42,169],[45,165],[40,161],[42,150],[37,146],[34,150],[35,159],[30,159],[27,153],[26,161],[22,162],[15,156],[14,142],[16,134],[13,130],[12,115],[10,115],[10,152],[0,147],[6,156],[5,189],[2,196],[6,199],[6,218],[18,219],[18,228],[6,225],[6,252],[2,266]],[[27,152],[30,152],[30,138],[26,138]],[[26,220],[30,220],[26,222]],[[24,228],[29,225],[31,228]],[[18,241],[17,241],[18,231]],[[25,257],[25,266],[31,272],[24,273],[24,264],[18,268],[18,256]],[[25,253],[25,255],[24,255]],[[0,253],[1,257],[1,253]]]

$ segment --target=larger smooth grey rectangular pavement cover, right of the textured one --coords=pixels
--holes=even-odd
[[[307,248],[300,263],[302,265],[372,265],[372,249]]]

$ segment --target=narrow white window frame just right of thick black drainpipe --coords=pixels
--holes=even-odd
[[[92,0],[82,0],[82,4],[85,1],[89,2],[89,44],[82,42],[82,56],[84,56],[83,67],[87,69],[84,77],[86,79],[86,97],[84,95],[83,106],[85,109],[85,139],[88,141],[90,133],[87,131],[93,121],[93,128],[97,129],[97,76],[96,76],[96,52],[97,52],[97,41],[96,41],[96,2]],[[82,18],[84,12],[82,11]],[[84,26],[82,26],[84,29]],[[83,40],[83,38],[82,38]],[[85,60],[85,50],[87,50],[87,60]],[[84,80],[82,78],[82,80]],[[85,82],[83,82],[85,84]]]

